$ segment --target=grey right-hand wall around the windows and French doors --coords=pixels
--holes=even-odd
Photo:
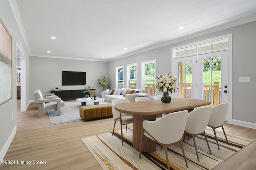
[[[124,65],[124,80],[126,80],[126,64],[138,62],[138,80],[141,74],[141,62],[156,59],[156,75],[171,72],[171,48],[185,45],[226,34],[233,34],[233,123],[256,128],[255,84],[256,84],[256,21],[217,31],[200,37],[180,41],[152,49],[136,55],[108,63],[108,76],[111,87],[115,86],[115,67]],[[238,82],[239,77],[250,77],[249,83]],[[138,85],[141,82],[138,81]]]

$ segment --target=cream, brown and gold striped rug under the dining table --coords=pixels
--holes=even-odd
[[[160,145],[156,145],[155,152],[142,152],[141,159],[139,159],[138,150],[132,147],[132,129],[127,129],[126,133],[125,130],[123,132],[124,146],[121,144],[120,135],[120,131],[115,131],[113,136],[111,132],[83,138],[82,141],[104,170],[167,169],[165,152],[164,149],[160,150]],[[217,136],[220,139],[220,150],[218,150],[212,129],[206,129],[206,135],[212,154],[209,153],[204,136],[199,135],[196,137],[200,159],[200,162],[198,162],[193,139],[190,138],[188,140],[186,137],[183,147],[188,161],[188,168],[186,168],[179,144],[168,148],[170,168],[173,170],[210,170],[252,142],[250,139],[227,134],[230,144],[227,145],[223,133],[218,131]]]

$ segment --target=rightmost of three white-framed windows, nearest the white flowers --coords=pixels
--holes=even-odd
[[[142,78],[145,93],[155,95],[156,60],[142,62]]]

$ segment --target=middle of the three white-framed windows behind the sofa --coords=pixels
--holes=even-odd
[[[137,63],[127,65],[127,87],[136,89],[137,88]]]

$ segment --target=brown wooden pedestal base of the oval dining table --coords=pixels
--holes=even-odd
[[[152,116],[140,116],[133,115],[133,132],[132,132],[132,145],[135,149],[140,150],[140,136],[142,129],[142,122],[144,120],[156,120],[156,115]],[[156,142],[143,136],[142,140],[142,152],[154,152],[156,151]]]

